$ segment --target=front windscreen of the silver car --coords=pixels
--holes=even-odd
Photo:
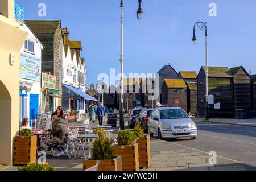
[[[179,119],[188,118],[188,115],[182,109],[160,110],[161,119]]]

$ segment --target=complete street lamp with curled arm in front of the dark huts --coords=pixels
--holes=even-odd
[[[194,29],[193,29],[193,38],[192,38],[192,42],[193,44],[196,44],[196,31],[195,31],[195,27],[198,26],[200,28],[200,30],[205,30],[205,120],[209,120],[209,105],[208,105],[208,47],[207,47],[207,23],[205,22],[196,22],[194,25]]]

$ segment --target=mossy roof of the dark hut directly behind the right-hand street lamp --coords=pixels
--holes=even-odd
[[[205,71],[205,67],[202,67]],[[228,67],[208,67],[209,77],[233,77]]]

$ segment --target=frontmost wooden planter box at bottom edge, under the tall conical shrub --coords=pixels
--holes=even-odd
[[[82,166],[84,171],[98,164],[98,171],[122,171],[122,157],[117,156],[113,160],[84,160]]]

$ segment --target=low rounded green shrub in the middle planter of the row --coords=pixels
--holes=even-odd
[[[130,130],[120,130],[117,135],[117,143],[119,146],[130,146],[137,139],[136,135]]]

